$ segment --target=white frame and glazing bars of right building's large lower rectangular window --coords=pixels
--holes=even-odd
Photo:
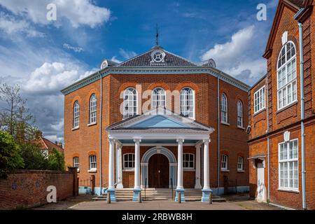
[[[293,150],[290,150],[290,143],[296,143],[296,151],[297,151],[297,154],[296,154],[296,158],[290,158],[290,151],[293,151]],[[283,159],[281,159],[281,145],[283,145]],[[286,154],[284,154],[284,146],[286,146]],[[284,159],[284,156],[286,155],[286,159]],[[293,163],[293,167],[294,167],[294,162],[296,162],[296,171],[297,171],[297,174],[294,175],[294,168],[293,168],[293,188],[290,187],[290,163]],[[283,186],[281,186],[281,164],[283,164],[283,168],[284,168],[284,165],[286,164],[286,170],[283,169]],[[299,142],[298,142],[298,139],[293,139],[293,140],[290,140],[290,141],[283,141],[281,143],[278,144],[278,181],[279,181],[279,190],[289,190],[289,191],[296,191],[298,192],[299,191]],[[285,179],[285,172],[287,172],[287,178]],[[297,177],[297,178],[294,178],[294,177]],[[297,180],[297,186],[294,187],[294,181],[295,179]],[[285,186],[285,183],[287,183],[287,186]]]

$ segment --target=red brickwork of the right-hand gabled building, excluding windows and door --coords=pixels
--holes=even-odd
[[[314,6],[314,3],[313,3]],[[305,6],[311,9],[313,6]],[[248,124],[251,125],[249,135],[249,157],[265,155],[265,187],[269,185],[269,202],[295,209],[302,209],[302,155],[301,155],[301,104],[300,104],[300,50],[299,29],[297,21],[293,20],[298,8],[279,1],[276,18],[272,27],[265,57],[267,59],[267,76],[256,83],[248,92]],[[315,209],[314,203],[314,130],[315,130],[315,85],[314,62],[315,29],[314,12],[302,21],[303,26],[303,57],[304,57],[304,125],[305,125],[305,162],[306,162],[306,201],[307,209]],[[297,102],[277,109],[277,61],[282,48],[281,37],[288,31],[288,41],[295,44],[296,74],[297,74]],[[273,41],[270,41],[273,40]],[[267,83],[267,84],[266,84]],[[254,114],[254,93],[262,85],[266,86],[266,109]],[[269,124],[269,130],[267,125]],[[268,134],[266,134],[268,131]],[[298,191],[279,190],[279,158],[278,147],[284,141],[283,133],[290,132],[290,139],[298,142]],[[267,155],[267,137],[269,137],[269,162]],[[311,162],[313,161],[313,162]],[[258,159],[250,164],[250,193],[257,195],[257,169],[253,167]],[[261,161],[260,161],[261,162]],[[269,183],[267,165],[269,164]]]

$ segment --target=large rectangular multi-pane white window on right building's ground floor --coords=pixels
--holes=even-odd
[[[279,188],[298,190],[297,139],[279,144]]]

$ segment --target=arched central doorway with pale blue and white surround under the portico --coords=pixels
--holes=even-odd
[[[167,158],[166,164],[165,164],[165,162],[162,162],[165,164],[165,167],[163,167],[163,169],[160,169],[160,172],[162,170],[163,173],[167,174],[166,180],[167,180],[168,186],[166,186],[166,187],[171,188],[173,185],[173,187],[176,188],[176,170],[177,170],[176,158],[175,158],[174,154],[172,153],[172,151],[169,151],[169,149],[167,149],[165,147],[150,148],[142,156],[142,159],[141,159],[141,188],[144,188],[145,186],[148,188],[148,186],[154,186],[156,184],[156,183],[151,184],[151,179],[153,179],[153,177],[151,179],[149,179],[149,169],[148,169],[149,164],[151,162],[154,162],[155,160],[164,160],[164,158],[162,158],[162,157],[160,159],[159,158],[153,158],[153,160],[151,160],[151,158],[155,155],[160,155],[160,156],[164,156],[164,158]],[[150,160],[150,162],[149,162],[149,160]],[[164,169],[168,169],[168,172],[165,172]],[[154,175],[152,175],[152,176],[154,176]],[[163,183],[163,185],[165,185],[165,183]]]

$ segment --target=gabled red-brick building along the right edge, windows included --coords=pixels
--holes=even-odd
[[[279,1],[263,55],[267,74],[248,92],[250,193],[295,209],[315,209],[313,8],[314,1]]]

